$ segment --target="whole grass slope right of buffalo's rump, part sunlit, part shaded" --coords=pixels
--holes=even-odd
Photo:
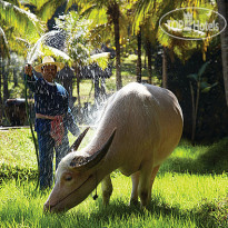
[[[181,140],[171,156],[163,162],[160,171],[219,174],[228,172],[228,139],[210,146],[191,146]]]

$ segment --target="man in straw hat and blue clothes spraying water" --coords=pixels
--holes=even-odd
[[[38,135],[41,190],[52,185],[53,148],[57,169],[69,150],[68,129],[73,136],[80,132],[68,106],[67,90],[53,81],[57,72],[63,67],[62,62],[54,62],[53,58],[44,57],[42,63],[34,67],[36,71],[42,73],[42,78],[33,75],[30,65],[24,67],[28,87],[34,92],[34,130]]]

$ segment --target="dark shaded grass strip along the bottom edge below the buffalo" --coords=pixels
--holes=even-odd
[[[32,195],[31,198],[37,198],[39,195]],[[181,210],[177,205],[175,207],[165,202],[162,197],[152,199],[147,210],[141,210],[140,207],[127,206],[122,200],[115,200],[108,207],[103,207],[101,199],[99,199],[99,207],[95,210],[87,209],[87,211],[72,211],[61,214],[43,214],[40,215],[40,209],[37,208],[38,215],[30,210],[29,207],[21,208],[19,205],[14,206],[13,201],[8,201],[4,205],[6,210],[2,211],[2,227],[9,225],[10,219],[13,218],[13,225],[24,224],[29,227],[80,227],[80,228],[105,228],[105,227],[153,227],[157,221],[159,227],[192,227],[198,228],[215,228],[226,227],[227,210],[226,207],[221,210],[220,204],[204,201],[197,208],[191,210]],[[227,205],[227,202],[225,202]],[[18,206],[18,207],[17,207]],[[31,204],[32,206],[32,204]],[[91,206],[92,207],[92,206]],[[7,208],[9,208],[7,210]],[[11,210],[11,209],[12,210]],[[40,219],[37,218],[40,217]],[[33,224],[33,220],[36,224]],[[125,226],[123,226],[125,225]],[[181,227],[181,228],[182,228]]]

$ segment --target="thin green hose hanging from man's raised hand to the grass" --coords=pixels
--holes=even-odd
[[[33,131],[32,122],[31,122],[31,112],[29,111],[28,95],[27,95],[27,87],[28,87],[27,81],[28,81],[28,75],[26,75],[26,77],[24,77],[26,113],[27,113],[27,118],[29,120],[29,127],[30,127],[30,131],[32,135],[32,140],[33,140],[33,145],[34,145],[36,156],[37,156],[37,165],[38,165],[38,179],[37,179],[37,187],[36,187],[36,190],[37,190],[38,186],[39,186],[39,177],[40,177],[40,161],[39,161],[38,143],[37,143],[36,137],[34,137],[34,131]]]

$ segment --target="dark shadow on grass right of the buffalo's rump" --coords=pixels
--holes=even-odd
[[[197,159],[169,158],[162,165],[160,172],[190,172],[190,174],[216,174],[228,172],[228,139],[224,139],[200,155]]]

